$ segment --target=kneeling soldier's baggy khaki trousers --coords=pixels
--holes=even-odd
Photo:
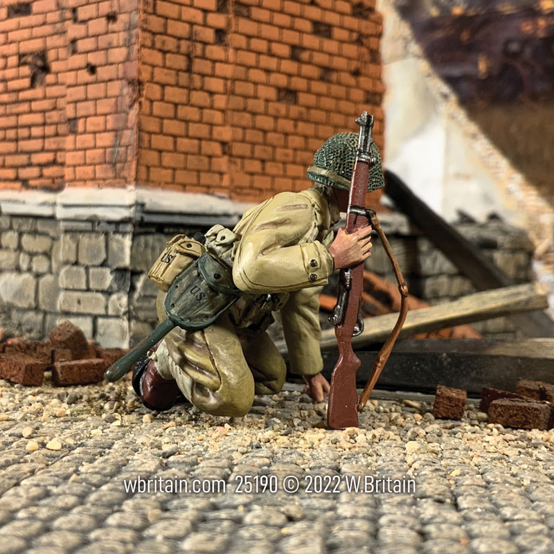
[[[159,292],[160,321],[165,297]],[[175,379],[190,402],[212,415],[240,417],[255,394],[278,393],[285,382],[285,361],[267,332],[235,328],[226,313],[202,331],[173,329],[150,357],[161,377]]]

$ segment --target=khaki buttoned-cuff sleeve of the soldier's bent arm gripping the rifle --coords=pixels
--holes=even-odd
[[[317,234],[310,201],[280,193],[262,206],[242,231],[233,263],[233,281],[243,292],[289,292],[325,285],[333,260],[321,242],[303,242]]]

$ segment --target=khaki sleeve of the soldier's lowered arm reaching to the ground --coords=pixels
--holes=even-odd
[[[323,369],[319,294],[323,287],[293,292],[281,309],[281,321],[292,373],[315,375]]]

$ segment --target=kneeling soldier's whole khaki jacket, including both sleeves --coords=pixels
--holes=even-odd
[[[293,373],[323,368],[319,293],[333,271],[328,246],[340,214],[316,188],[280,193],[250,208],[233,229],[239,243],[233,281],[242,292],[280,295]]]

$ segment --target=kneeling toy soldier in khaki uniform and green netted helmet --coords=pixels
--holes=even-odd
[[[329,384],[320,373],[319,293],[334,269],[362,262],[372,246],[370,226],[350,235],[340,229],[334,238],[340,212],[348,206],[357,142],[355,133],[328,139],[307,170],[314,181],[311,188],[280,193],[250,208],[233,231],[212,227],[203,246],[185,238],[184,249],[199,246],[210,255],[210,263],[218,260],[222,268],[210,272],[199,267],[199,282],[188,292],[197,292],[196,300],[205,301],[213,290],[200,283],[207,280],[235,296],[229,307],[220,303],[213,308],[217,317],[211,324],[197,325],[199,330],[172,328],[148,358],[137,362],[133,386],[146,406],[166,410],[182,394],[201,411],[242,416],[255,394],[278,393],[285,382],[285,362],[266,332],[276,311],[283,321],[292,372],[303,376],[313,400],[321,402],[328,395]],[[377,163],[368,190],[384,185],[375,145],[372,156]],[[168,252],[164,256],[160,259],[166,264],[174,258]],[[229,283],[222,288],[226,278]],[[161,321],[168,316],[166,294],[161,290],[158,297]]]

